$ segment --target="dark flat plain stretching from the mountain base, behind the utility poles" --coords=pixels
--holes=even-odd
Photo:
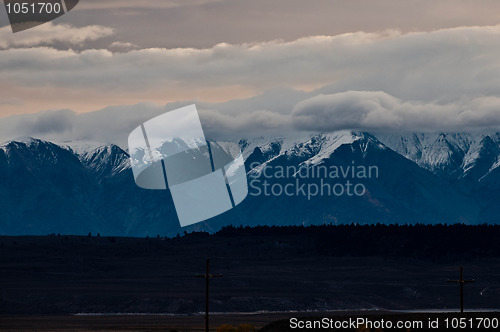
[[[223,274],[210,283],[210,310],[221,313],[212,316],[214,330],[252,324],[286,331],[300,312],[356,318],[457,311],[459,286],[447,281],[459,278],[459,266],[475,279],[464,287],[465,310],[487,312],[500,309],[500,246],[483,228],[0,237],[0,331],[202,331],[205,282],[196,275],[207,258],[211,273]]]

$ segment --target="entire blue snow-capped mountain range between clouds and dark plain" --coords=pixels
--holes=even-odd
[[[4,143],[0,145],[0,234],[171,236],[185,230],[215,231],[229,224],[499,222],[499,133],[339,131],[235,142],[247,165],[248,197],[236,208],[188,228],[180,228],[168,191],[135,185],[124,148],[34,138]],[[319,188],[325,181],[334,185],[350,180],[363,185],[362,195],[257,194],[263,189],[263,178],[257,175],[264,169],[349,166],[376,166],[378,176],[320,179],[295,174],[266,181],[281,187],[291,183]]]

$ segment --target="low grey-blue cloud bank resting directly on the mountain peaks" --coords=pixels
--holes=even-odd
[[[33,136],[57,142],[85,140],[127,145],[129,133],[157,115],[196,103],[210,138],[279,136],[295,131],[456,132],[500,129],[500,98],[478,97],[454,103],[403,101],[381,91],[347,91],[329,95],[282,89],[250,99],[213,104],[196,101],[165,106],[115,106],[90,113],[46,111],[0,119],[0,142]],[[308,95],[315,95],[308,98]],[[297,100],[299,101],[294,106]],[[259,108],[266,104],[267,109]],[[292,111],[289,111],[292,110]]]

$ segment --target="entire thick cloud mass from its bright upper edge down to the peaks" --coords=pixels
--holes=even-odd
[[[118,142],[148,118],[192,101],[214,135],[498,128],[499,41],[500,25],[206,49],[10,48],[0,51],[0,113],[72,111],[0,119],[0,139]],[[102,110],[79,114],[89,105]]]

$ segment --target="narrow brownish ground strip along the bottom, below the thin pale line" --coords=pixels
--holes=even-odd
[[[407,324],[417,324],[421,322],[422,328],[404,329],[372,329],[377,331],[436,331],[455,330],[452,324],[459,324],[460,318],[465,318],[467,328],[463,330],[484,330],[494,331],[493,327],[485,329],[484,324],[491,324],[494,320],[498,322],[500,313],[498,312],[474,312],[465,313],[394,313],[394,312],[326,312],[326,313],[263,313],[263,314],[233,314],[214,315],[211,317],[211,331],[228,324],[238,326],[240,324],[251,324],[262,332],[286,332],[300,329],[290,328],[291,317],[299,320],[313,321],[328,317],[334,321],[343,321],[362,317],[371,322],[391,321],[406,322]],[[445,320],[448,319],[448,329]],[[430,321],[438,321],[438,327],[429,328]],[[473,328],[471,328],[471,326]],[[482,325],[482,326],[479,326]],[[416,326],[416,325],[415,325]],[[160,315],[125,315],[125,316],[0,316],[0,331],[21,331],[21,332],[87,332],[87,331],[113,331],[113,332],[145,332],[145,331],[177,331],[195,332],[204,331],[203,316],[160,316]],[[336,331],[339,329],[308,329],[308,331]],[[362,331],[363,327],[357,329],[342,329],[342,331]],[[364,330],[367,331],[367,330]]]

